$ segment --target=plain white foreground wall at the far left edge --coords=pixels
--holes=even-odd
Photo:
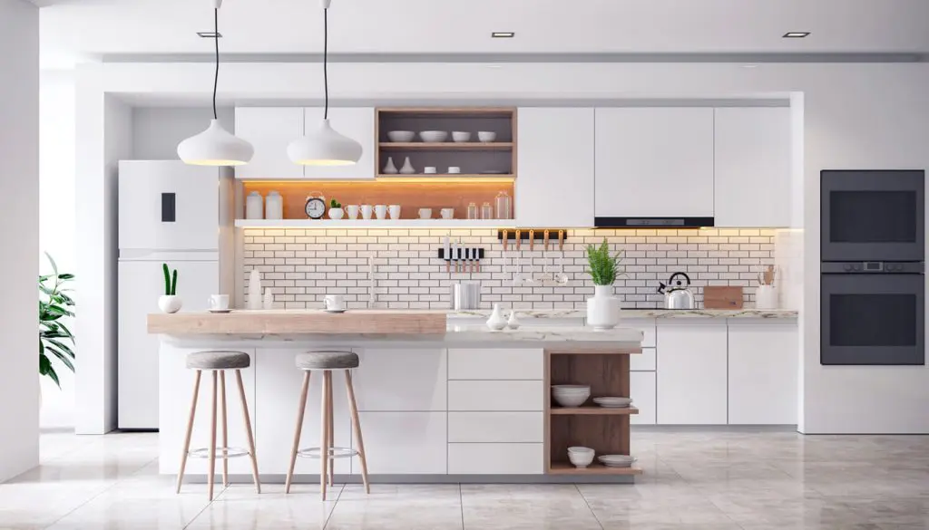
[[[39,11],[0,0],[0,482],[39,463]]]

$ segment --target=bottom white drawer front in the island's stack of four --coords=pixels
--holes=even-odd
[[[542,444],[449,444],[449,474],[542,474]]]

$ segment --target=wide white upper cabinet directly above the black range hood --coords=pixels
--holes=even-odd
[[[597,109],[595,146],[597,217],[713,216],[713,109]]]

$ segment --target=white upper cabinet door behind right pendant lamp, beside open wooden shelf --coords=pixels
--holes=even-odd
[[[305,109],[307,134],[315,132],[322,123],[322,107]],[[305,167],[304,178],[333,180],[360,180],[374,178],[374,109],[373,108],[330,108],[329,123],[339,134],[348,136],[361,144],[361,159],[354,165]]]

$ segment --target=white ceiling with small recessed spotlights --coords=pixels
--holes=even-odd
[[[34,2],[45,68],[212,50],[210,0]],[[318,53],[321,18],[319,0],[225,0],[222,49]],[[929,0],[333,0],[329,21],[341,54],[929,53]]]

